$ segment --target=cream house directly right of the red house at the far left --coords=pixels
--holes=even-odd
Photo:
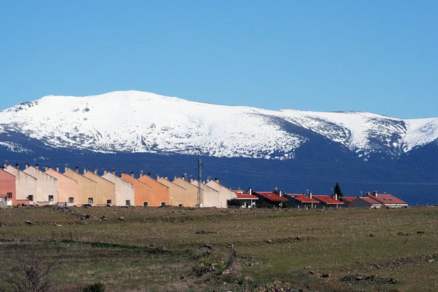
[[[18,165],[5,165],[4,170],[15,176],[15,192],[17,201],[28,200],[30,204],[37,202],[37,178],[19,170]]]

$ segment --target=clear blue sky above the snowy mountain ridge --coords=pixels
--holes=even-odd
[[[136,89],[438,116],[438,1],[0,0],[0,108]]]

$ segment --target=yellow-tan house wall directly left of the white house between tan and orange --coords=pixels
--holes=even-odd
[[[91,181],[95,181],[96,185],[96,196],[93,198],[94,206],[107,206],[116,203],[116,184],[102,178],[98,175],[98,171],[89,172],[84,170],[84,176]]]

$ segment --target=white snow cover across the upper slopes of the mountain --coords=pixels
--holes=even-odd
[[[0,111],[0,131],[95,152],[293,158],[302,127],[357,152],[397,156],[438,138],[438,118],[401,120],[365,112],[269,111],[191,102],[140,91],[48,95]]]

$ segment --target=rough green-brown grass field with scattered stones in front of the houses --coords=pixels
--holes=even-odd
[[[42,207],[0,223],[0,279],[36,253],[55,262],[53,291],[438,291],[435,207]]]

